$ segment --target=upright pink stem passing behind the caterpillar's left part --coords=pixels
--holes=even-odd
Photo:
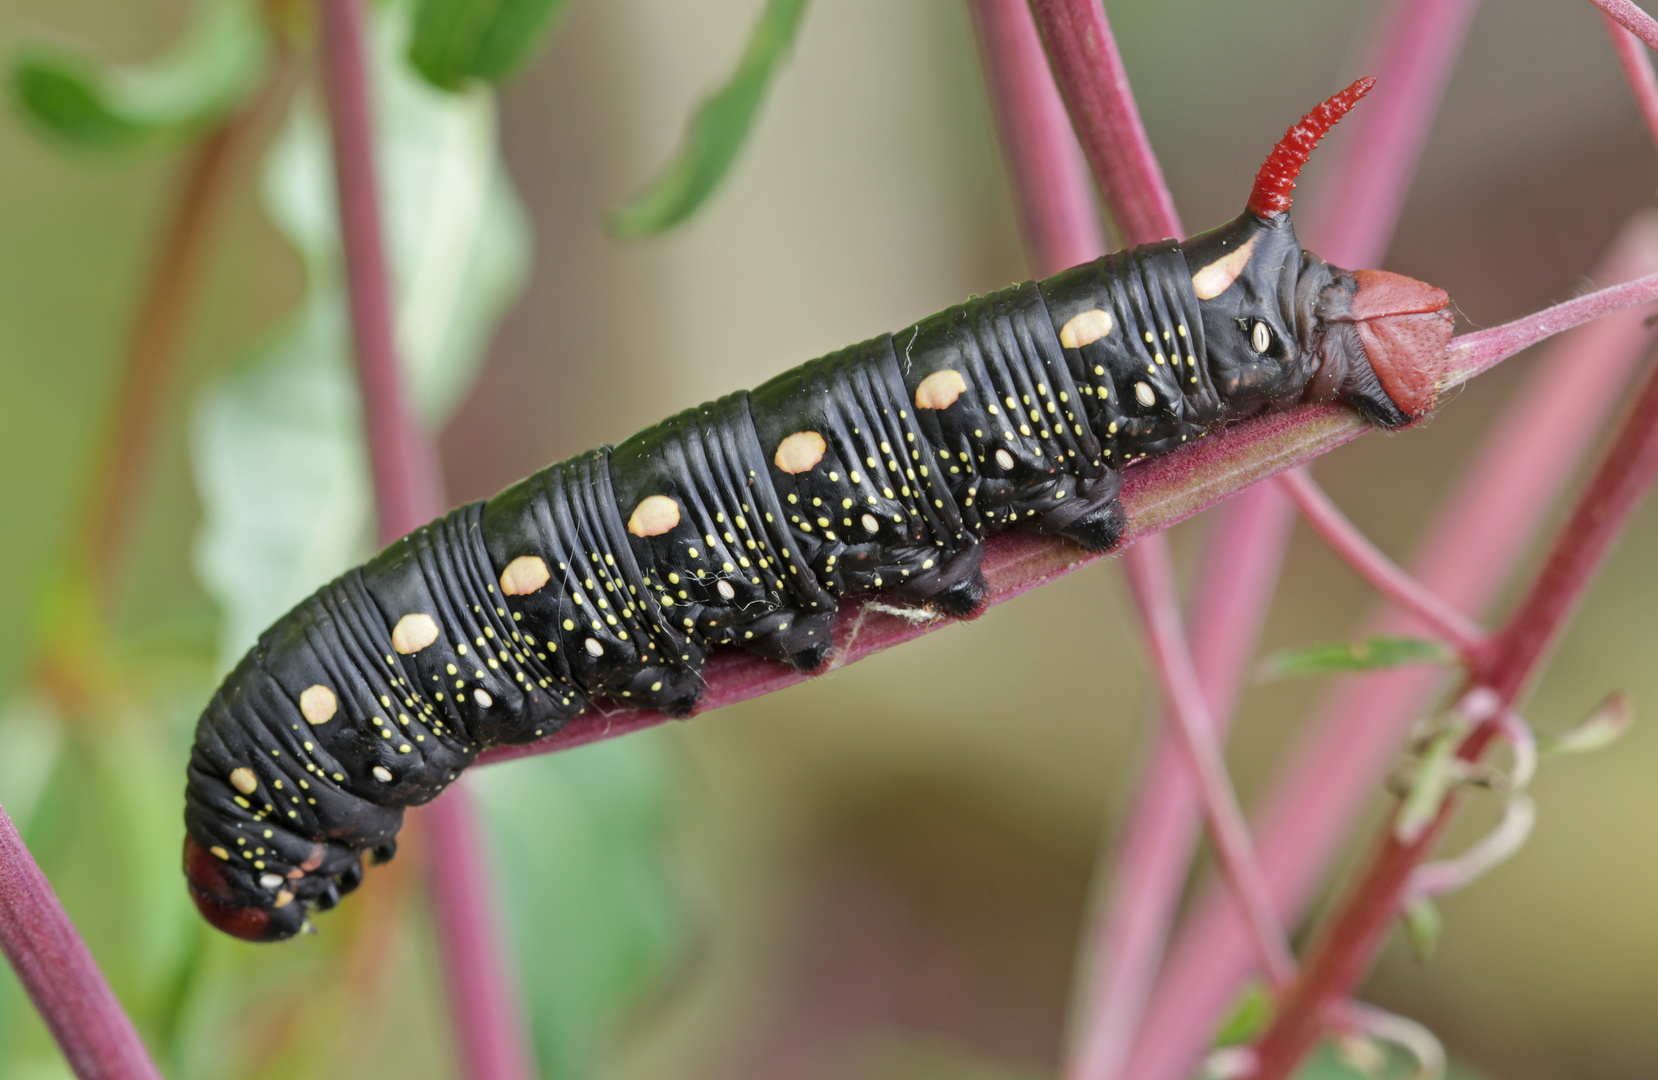
[[[393,542],[443,513],[443,483],[431,438],[408,411],[398,365],[361,0],[322,0],[322,15],[356,373],[380,538],[381,542]],[[454,785],[423,811],[423,820],[433,909],[463,1072],[471,1080],[529,1080],[534,1068],[524,1009],[497,934],[501,921],[491,891],[492,876],[468,790]]]

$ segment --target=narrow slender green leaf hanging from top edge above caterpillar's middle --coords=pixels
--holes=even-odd
[[[620,236],[653,236],[690,217],[725,178],[748,138],[778,61],[794,43],[806,0],[766,0],[736,71],[706,98],[667,169],[637,199],[615,211]]]

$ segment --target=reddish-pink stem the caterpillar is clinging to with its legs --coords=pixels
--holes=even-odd
[[[1600,294],[1592,294],[1585,299],[1595,300],[1598,295]],[[1640,290],[1620,292],[1618,295],[1628,307],[1658,300],[1658,280],[1651,280]],[[1597,304],[1583,305],[1578,300],[1568,300],[1559,307],[1572,309],[1572,319],[1577,320],[1598,317],[1593,312],[1600,310]],[[1550,309],[1550,312],[1552,310],[1554,309]],[[1549,312],[1542,312],[1540,317],[1554,327],[1552,332],[1567,330],[1570,325],[1577,325],[1567,319],[1557,319]],[[1512,325],[1530,325],[1535,319],[1539,317],[1527,317],[1517,320],[1517,324],[1505,324],[1502,327],[1494,327],[1492,330],[1466,335],[1464,338],[1452,338],[1452,355],[1459,348],[1459,343],[1467,338],[1477,338],[1482,333],[1500,335]],[[1640,328],[1640,315],[1635,315],[1633,325]],[[1530,330],[1525,332],[1527,337],[1529,333]],[[1519,348],[1520,345],[1515,345],[1515,350]],[[1618,353],[1613,353],[1612,357],[1597,357],[1593,363],[1578,358],[1578,370],[1557,373],[1555,378],[1565,378],[1573,383],[1570,390],[1575,393],[1593,395],[1597,392],[1605,392],[1610,396],[1615,393],[1615,387],[1602,387],[1597,380],[1583,378],[1582,375],[1587,370],[1612,370],[1600,368],[1597,365],[1610,363],[1617,357]],[[1461,383],[1462,378],[1457,377],[1456,382]],[[1578,383],[1590,385],[1585,387]],[[1547,390],[1549,393],[1545,416],[1534,418],[1532,423],[1540,426],[1554,423],[1560,431],[1575,431],[1577,421],[1582,418],[1562,411],[1560,390],[1557,387],[1545,387],[1542,390]],[[1590,410],[1590,416],[1598,416],[1598,413],[1593,411],[1593,405],[1585,405],[1585,408]],[[1534,426],[1527,435],[1534,440],[1534,443],[1535,431],[1540,430],[1540,426]],[[1285,469],[1311,461],[1313,458],[1328,453],[1336,446],[1343,446],[1368,431],[1373,431],[1373,428],[1360,420],[1351,410],[1336,405],[1315,405],[1288,413],[1273,413],[1247,420],[1224,433],[1197,440],[1179,453],[1152,458],[1136,465],[1129,469],[1122,484],[1122,506],[1129,518],[1129,533],[1124,539],[1124,546],[1131,547],[1146,536],[1162,533],[1164,529],[1176,526],[1180,521],[1209,509],[1210,506],[1224,503],[1255,483],[1270,479]],[[1527,460],[1530,461],[1532,458]],[[1539,466],[1539,471],[1552,474],[1554,466],[1555,463],[1552,461],[1550,468]],[[1476,496],[1477,491],[1469,491],[1466,501],[1474,503]],[[1504,524],[1502,528],[1505,529],[1507,526]],[[1489,529],[1476,528],[1474,524],[1469,524],[1467,531],[1471,534],[1477,533],[1487,538],[1486,542],[1489,542],[1494,549],[1504,549],[1507,542],[1514,539],[1492,539],[1489,538]],[[993,536],[987,541],[985,547],[985,579],[990,584],[985,602],[987,606],[1001,604],[1015,596],[1020,596],[1021,592],[1028,592],[1036,586],[1046,584],[1054,577],[1069,574],[1074,569],[1094,562],[1099,557],[1103,556],[1081,551],[1069,542],[1053,538],[1031,536],[1026,533],[1003,533]],[[1462,567],[1461,572],[1467,574],[1471,579],[1482,581],[1486,564],[1481,561],[1477,569]],[[1439,579],[1429,579],[1424,574],[1418,574],[1418,577],[1436,592],[1444,592],[1444,587],[1437,584]],[[1446,587],[1454,587],[1454,582]],[[862,604],[847,604],[836,619],[834,634],[837,645],[832,664],[836,669],[856,664],[870,654],[890,649],[900,642],[914,640],[943,625],[948,625],[948,620],[924,624],[870,611]],[[746,702],[764,693],[773,693],[807,679],[807,675],[789,670],[779,664],[771,664],[768,660],[736,652],[715,654],[715,657],[708,662],[705,675],[706,692],[698,705],[700,713],[721,708],[725,705],[734,705],[736,702]],[[657,727],[667,720],[668,717],[663,713],[633,707],[615,708],[604,713],[599,710],[589,710],[567,723],[557,733],[549,735],[541,742],[522,747],[494,747],[486,750],[479,756],[479,761],[511,761],[514,758],[532,756],[537,753],[585,747],[587,743]]]

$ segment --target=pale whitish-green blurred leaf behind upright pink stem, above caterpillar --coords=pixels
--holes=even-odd
[[[398,7],[375,23],[385,234],[410,398],[439,425],[529,265],[529,224],[496,151],[494,98],[433,90],[405,61]],[[196,566],[224,612],[224,664],[366,554],[371,486],[351,368],[328,133],[295,108],[265,161],[270,217],[305,264],[288,325],[221,378],[194,418]]]

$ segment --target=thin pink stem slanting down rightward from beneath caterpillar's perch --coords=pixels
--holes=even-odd
[[[1146,624],[1146,639],[1152,654],[1152,667],[1162,684],[1164,700],[1180,732],[1187,766],[1197,781],[1209,821],[1209,834],[1215,844],[1222,873],[1232,886],[1239,907],[1248,921],[1255,941],[1255,954],[1275,987],[1288,985],[1295,975],[1295,957],[1278,926],[1267,881],[1262,878],[1250,841],[1244,810],[1232,791],[1227,763],[1220,755],[1214,722],[1209,718],[1209,702],[1197,682],[1197,670],[1185,649],[1180,629],[1180,606],[1174,594],[1174,567],[1169,562],[1169,546],[1162,538],[1139,544],[1134,557],[1124,561],[1129,587]]]

